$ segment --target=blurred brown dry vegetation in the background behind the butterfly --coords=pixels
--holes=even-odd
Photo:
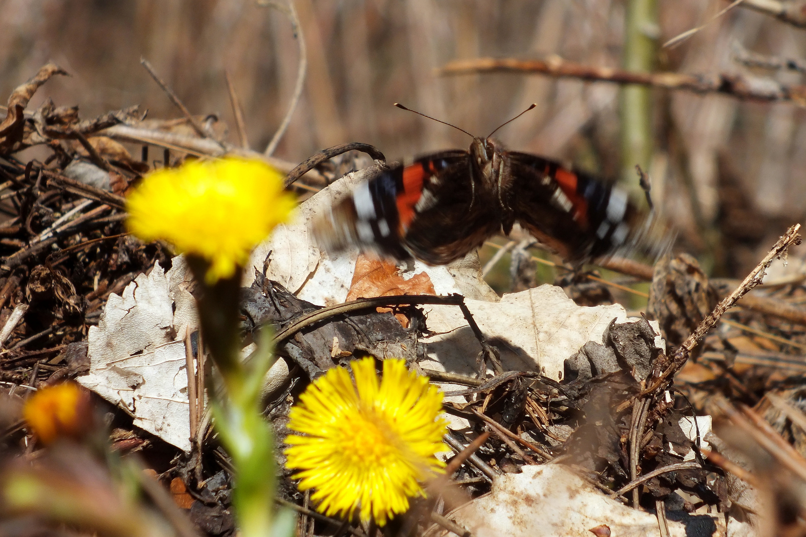
[[[659,47],[708,22],[728,5],[721,0],[294,5],[307,78],[275,151],[293,163],[348,141],[371,143],[392,159],[467,147],[459,131],[396,109],[395,101],[479,135],[534,102],[536,109],[496,134],[508,147],[616,178],[625,169],[621,114],[643,97],[620,99],[619,86],[608,83],[502,73],[438,76],[435,68],[479,56],[559,55],[592,66],[640,68],[643,61],[658,71],[754,72],[800,84],[799,72],[759,71],[735,61],[733,51],[741,46],[800,58],[806,46],[802,29],[739,6],[679,46]],[[48,60],[72,75],[49,81],[32,108],[52,97],[56,105],[79,105],[83,118],[134,104],[152,118],[180,117],[140,66],[143,56],[193,114],[218,114],[237,143],[226,71],[245,111],[249,143],[263,151],[297,80],[300,54],[289,18],[254,0],[2,0],[0,13],[0,95]],[[644,46],[650,54],[636,60],[630,52]],[[639,121],[635,128],[651,138],[641,158],[649,161],[655,203],[713,275],[745,275],[759,252],[804,213],[806,110],[792,102],[662,89],[649,90],[646,103],[644,127]]]

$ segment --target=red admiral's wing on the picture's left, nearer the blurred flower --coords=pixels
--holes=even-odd
[[[387,258],[441,265],[501,229],[496,208],[475,196],[467,151],[442,151],[381,171],[314,223],[328,250],[355,244]]]

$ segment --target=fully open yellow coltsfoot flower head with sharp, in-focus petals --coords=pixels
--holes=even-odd
[[[373,358],[353,361],[352,370],[355,384],[334,367],[300,395],[289,429],[305,436],[285,440],[286,467],[299,470],[300,490],[315,489],[318,510],[345,517],[359,510],[383,526],[444,467],[434,456],[445,450],[442,392],[403,360],[385,360],[380,382]]]

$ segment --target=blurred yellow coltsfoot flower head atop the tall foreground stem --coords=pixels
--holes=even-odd
[[[153,171],[128,196],[127,226],[210,263],[207,283],[235,275],[251,250],[289,218],[283,175],[258,160],[192,161]]]

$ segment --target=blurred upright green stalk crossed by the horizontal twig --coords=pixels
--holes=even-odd
[[[658,39],[656,0],[627,0],[624,32],[624,68],[651,72]],[[642,196],[635,165],[649,171],[652,159],[652,93],[638,85],[621,87],[621,184],[631,195]]]

